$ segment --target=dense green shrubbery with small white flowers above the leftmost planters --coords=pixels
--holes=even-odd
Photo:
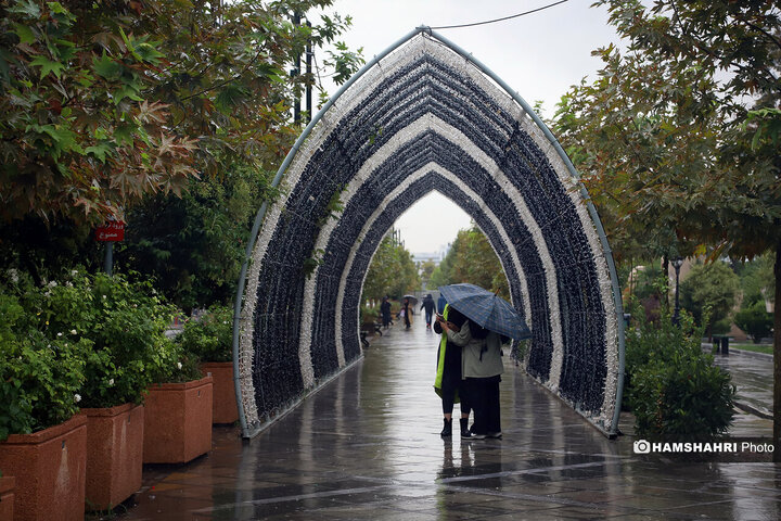
[[[79,407],[140,403],[163,367],[187,364],[165,336],[175,309],[150,282],[76,269],[36,287],[24,274],[2,275],[0,439]]]

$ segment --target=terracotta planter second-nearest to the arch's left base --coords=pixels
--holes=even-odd
[[[212,377],[148,391],[144,463],[183,463],[212,449]]]

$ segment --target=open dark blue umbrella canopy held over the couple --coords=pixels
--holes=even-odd
[[[501,296],[474,284],[443,285],[439,291],[448,304],[481,327],[515,340],[532,336],[526,322]]]

